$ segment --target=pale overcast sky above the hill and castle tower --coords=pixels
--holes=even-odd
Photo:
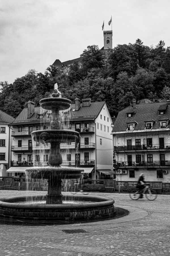
[[[56,59],[75,59],[103,43],[112,16],[113,47],[170,46],[169,0],[0,0],[0,81],[13,83],[29,69],[44,73]]]

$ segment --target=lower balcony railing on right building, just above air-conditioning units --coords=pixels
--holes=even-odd
[[[165,161],[152,161],[152,162],[148,162],[148,161],[141,161],[141,162],[137,162],[137,161],[123,161],[123,162],[116,162],[114,164],[115,168],[120,168],[121,167],[140,167],[140,166],[146,166],[146,167],[160,167],[160,166],[170,166],[170,161],[169,160],[165,160]]]

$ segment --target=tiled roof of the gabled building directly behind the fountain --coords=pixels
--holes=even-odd
[[[90,106],[88,107],[80,107],[78,111],[73,111],[75,109],[75,104],[71,104],[71,118],[74,119],[76,117],[83,117],[88,119],[91,117],[95,118],[97,115],[99,115],[102,107],[104,106],[105,101],[101,102],[91,102]],[[24,108],[22,112],[16,117],[16,119],[13,121],[13,123],[22,123],[25,121],[30,122],[40,122],[41,119],[39,119],[39,113],[40,113],[40,107],[35,107],[35,113],[31,116],[31,118],[27,119],[27,108]]]

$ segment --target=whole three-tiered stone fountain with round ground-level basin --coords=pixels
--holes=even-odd
[[[51,144],[47,167],[32,167],[26,170],[31,178],[48,179],[47,195],[8,197],[0,199],[0,217],[25,222],[70,222],[112,217],[114,200],[107,197],[89,196],[83,194],[62,195],[61,182],[63,179],[81,178],[82,168],[61,167],[62,156],[60,143],[78,143],[80,135],[76,131],[61,129],[59,110],[70,107],[71,101],[59,97],[57,87],[50,98],[40,100],[41,107],[52,111],[52,121],[49,130],[32,132],[34,141]],[[38,201],[46,201],[40,204]],[[74,200],[79,203],[63,204],[63,200]],[[27,203],[29,201],[29,203]],[[90,201],[90,202],[89,202]],[[86,203],[87,202],[87,203]]]

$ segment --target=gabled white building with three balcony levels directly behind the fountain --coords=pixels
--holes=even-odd
[[[80,133],[78,144],[60,144],[62,166],[84,168],[84,175],[91,179],[113,177],[112,119],[106,103],[76,98],[71,109],[61,112],[60,117],[62,129]],[[7,170],[11,176],[24,177],[28,166],[48,165],[50,144],[32,141],[31,132],[50,129],[50,121],[50,111],[40,113],[40,108],[31,101],[13,121],[12,161]]]

